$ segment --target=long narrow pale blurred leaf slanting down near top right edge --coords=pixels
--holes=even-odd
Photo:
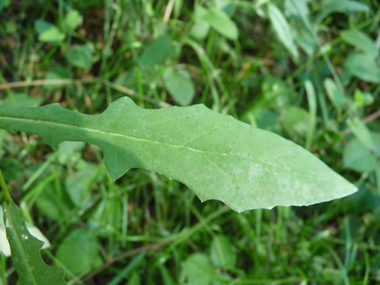
[[[286,21],[284,15],[282,14],[281,10],[278,9],[277,6],[275,6],[274,4],[268,3],[268,16],[278,38],[288,49],[290,54],[293,56],[294,60],[298,61],[299,53],[297,50],[297,46],[293,41],[291,28],[288,22]]]

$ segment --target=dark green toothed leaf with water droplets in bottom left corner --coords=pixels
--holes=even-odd
[[[49,267],[42,260],[40,248],[44,243],[29,233],[25,219],[13,201],[6,207],[5,225],[20,284],[65,284],[63,270]]]

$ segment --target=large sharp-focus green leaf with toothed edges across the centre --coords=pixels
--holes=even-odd
[[[115,180],[144,168],[178,180],[201,201],[218,199],[236,211],[310,205],[356,187],[310,152],[203,105],[146,110],[123,97],[100,115],[59,104],[0,109],[0,128],[101,147]]]

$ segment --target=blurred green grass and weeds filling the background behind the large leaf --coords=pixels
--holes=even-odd
[[[203,103],[291,139],[359,188],[238,214],[157,172],[113,182],[94,144],[53,152],[2,131],[2,188],[67,284],[379,282],[376,1],[37,2],[0,4],[2,115],[54,102],[95,115],[126,95],[158,112]],[[17,283],[16,267],[1,255],[0,284]]]

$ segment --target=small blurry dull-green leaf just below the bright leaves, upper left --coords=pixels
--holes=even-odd
[[[65,56],[72,65],[82,69],[90,69],[92,67],[94,49],[92,43],[75,45],[72,50],[66,52]]]

